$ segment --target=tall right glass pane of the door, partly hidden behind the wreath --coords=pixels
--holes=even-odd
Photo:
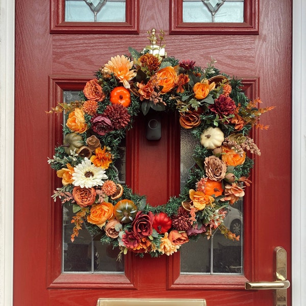
[[[189,169],[194,161],[192,153],[198,143],[186,129],[181,128],[181,189],[185,185]],[[210,240],[205,234],[197,241],[183,244],[181,250],[181,274],[242,274],[243,273],[243,202],[237,201],[228,209],[224,224],[240,241],[225,239],[217,229]]]

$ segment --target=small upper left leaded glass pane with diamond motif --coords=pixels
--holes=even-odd
[[[65,0],[65,21],[125,22],[125,0]]]

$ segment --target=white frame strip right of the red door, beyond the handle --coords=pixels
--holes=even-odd
[[[292,305],[306,304],[306,1],[293,0]]]

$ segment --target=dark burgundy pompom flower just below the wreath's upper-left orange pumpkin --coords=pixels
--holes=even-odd
[[[108,105],[104,115],[110,118],[115,130],[123,129],[131,121],[129,111],[121,104]]]

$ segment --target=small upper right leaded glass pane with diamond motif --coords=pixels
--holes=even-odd
[[[184,0],[183,22],[243,22],[243,0]]]

